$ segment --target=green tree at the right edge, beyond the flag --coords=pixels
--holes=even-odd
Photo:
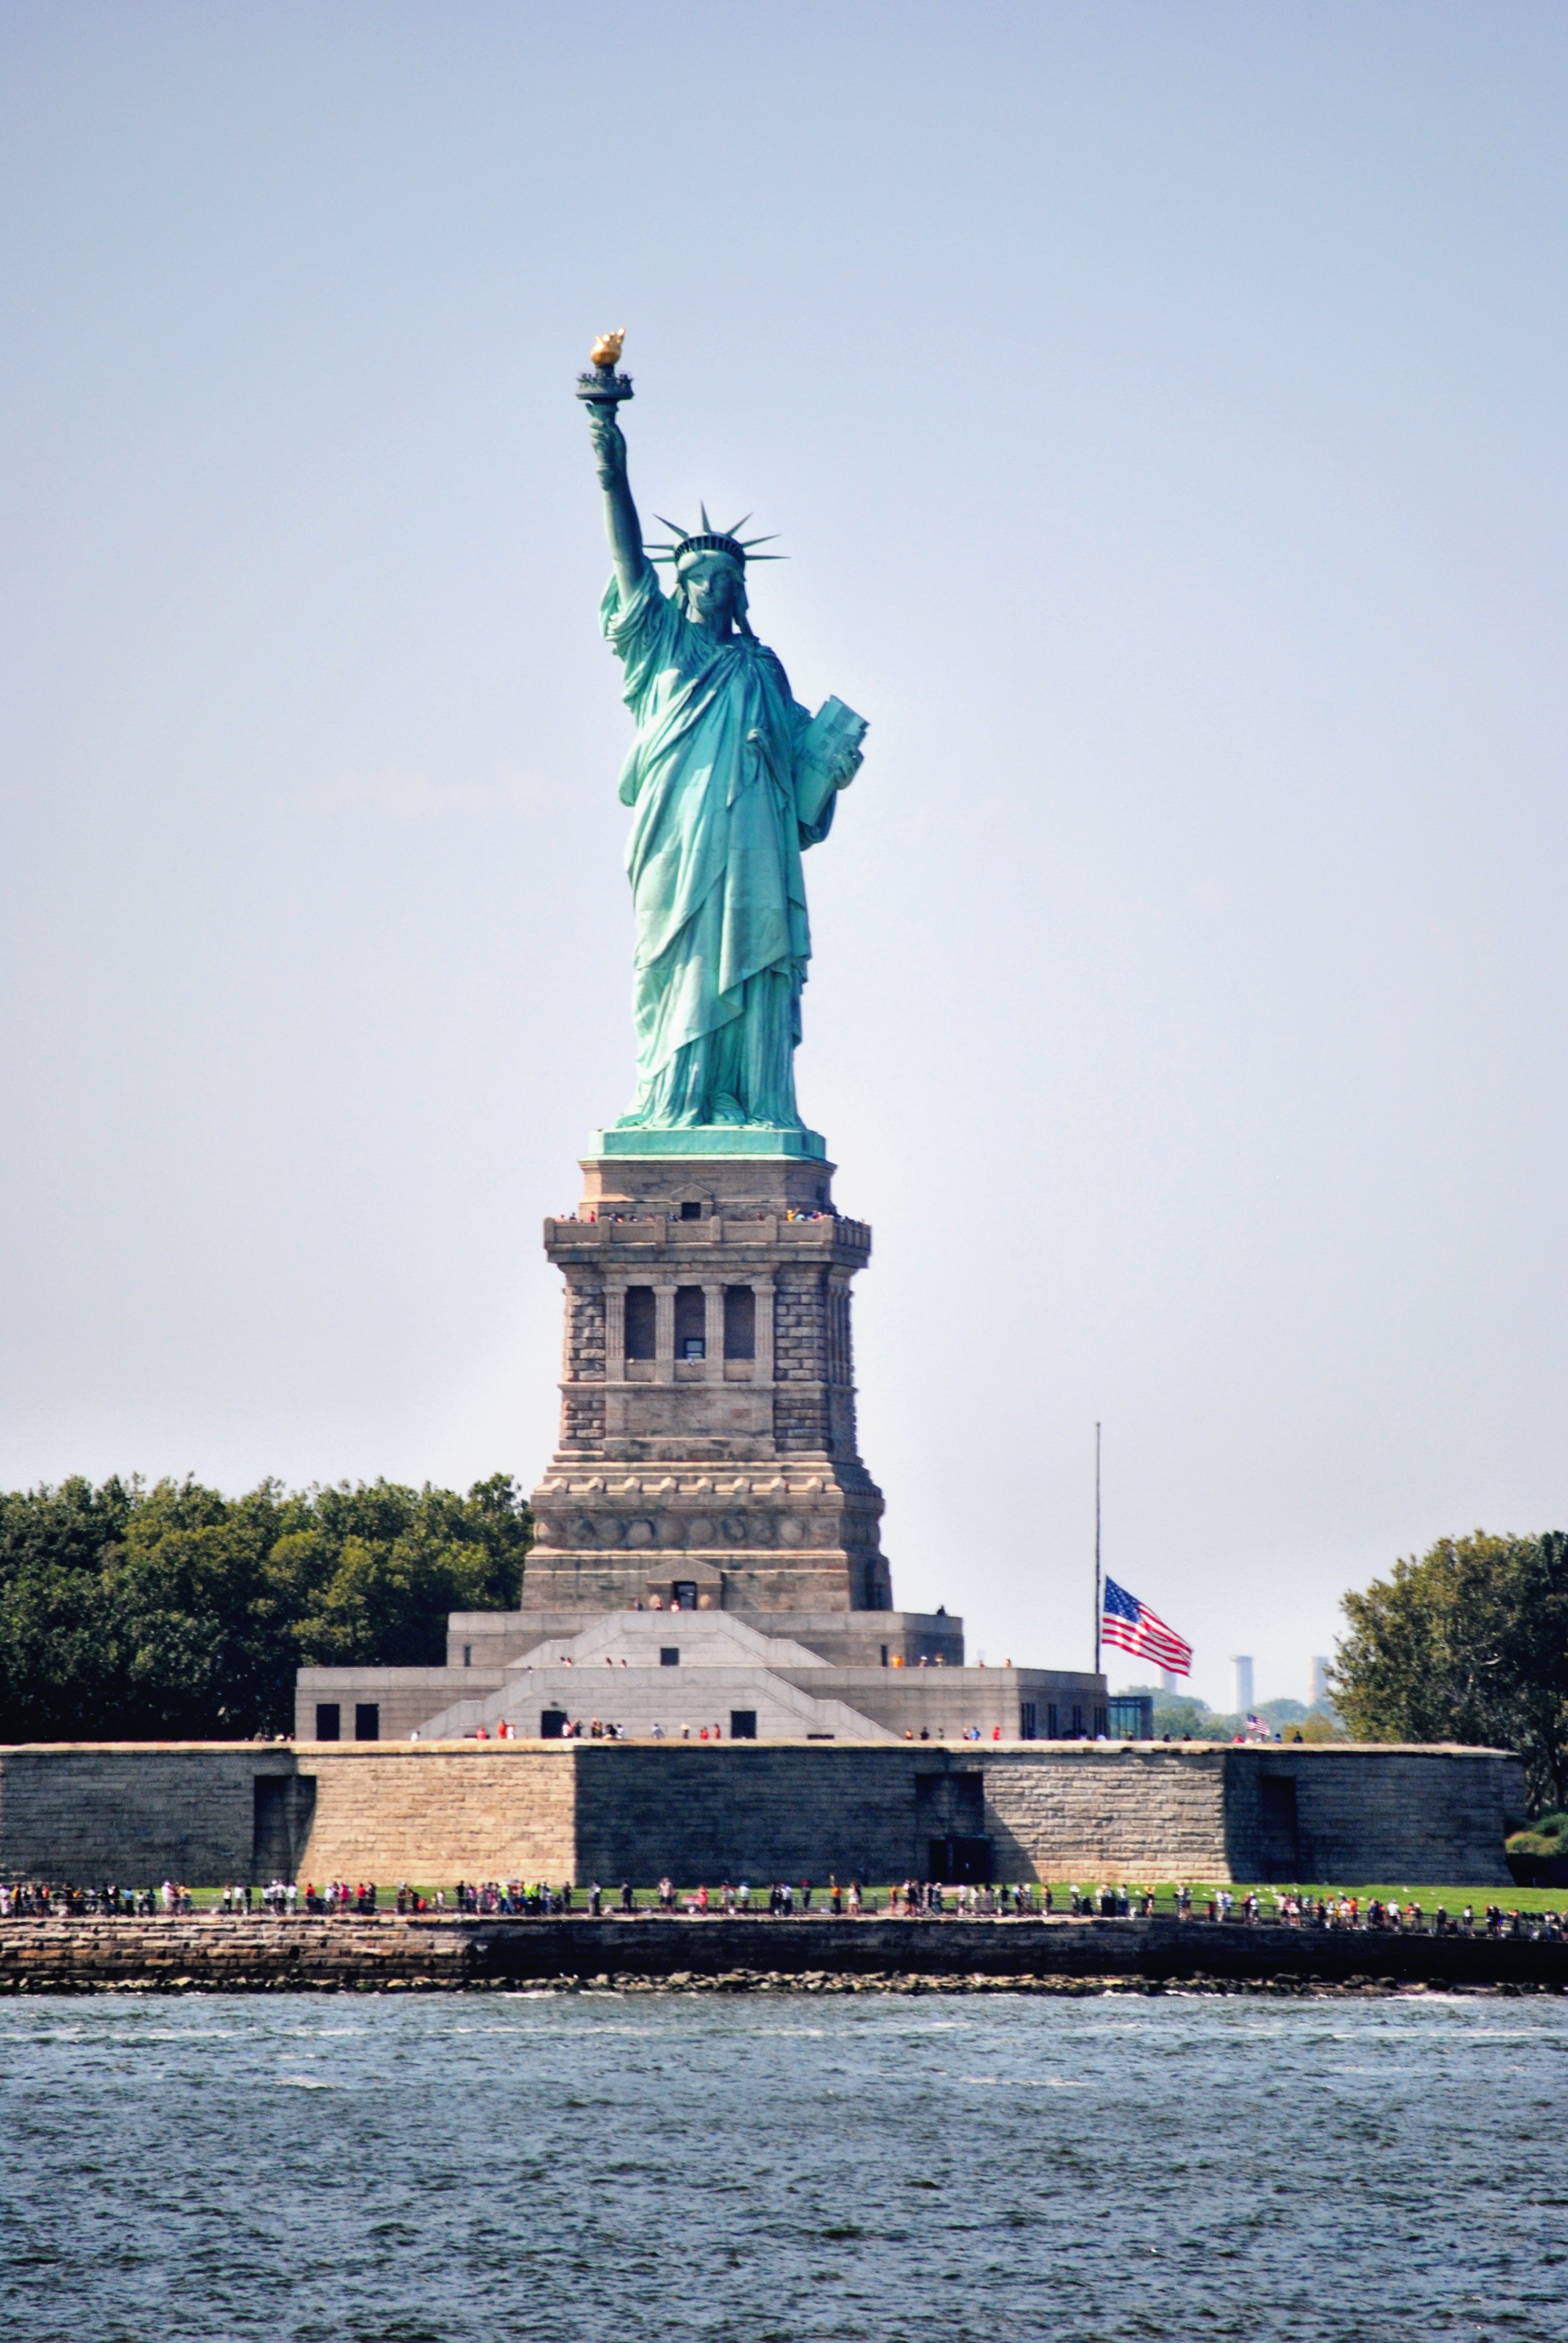
[[[1568,1804],[1568,1535],[1441,1537],[1343,1610],[1334,1701],[1357,1741],[1514,1748],[1530,1806]]]

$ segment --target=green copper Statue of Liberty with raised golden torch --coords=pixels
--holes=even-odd
[[[743,541],[745,522],[715,530],[705,508],[701,530],[663,522],[675,544],[654,560],[670,562],[673,593],[659,588],[626,478],[619,356],[621,335],[605,335],[581,380],[614,553],[602,623],[638,726],[621,771],[638,1094],[619,1129],[799,1132],[802,851],[832,829],[865,722],[841,701],[811,717],[752,635],[745,562],[764,539]]]

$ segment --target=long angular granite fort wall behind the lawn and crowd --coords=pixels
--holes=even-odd
[[[1502,1750],[1139,1743],[59,1743],[0,1750],[0,1874],[923,1877],[1507,1886]]]

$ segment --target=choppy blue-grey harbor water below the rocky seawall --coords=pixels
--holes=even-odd
[[[1568,2001],[0,2008],[45,2343],[1568,2336]]]

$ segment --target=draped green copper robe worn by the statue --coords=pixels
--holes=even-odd
[[[802,1129],[802,848],[827,836],[837,804],[799,820],[795,759],[811,719],[773,651],[750,635],[715,642],[652,569],[626,600],[609,581],[602,623],[638,724],[621,771],[638,1094],[621,1127]]]

